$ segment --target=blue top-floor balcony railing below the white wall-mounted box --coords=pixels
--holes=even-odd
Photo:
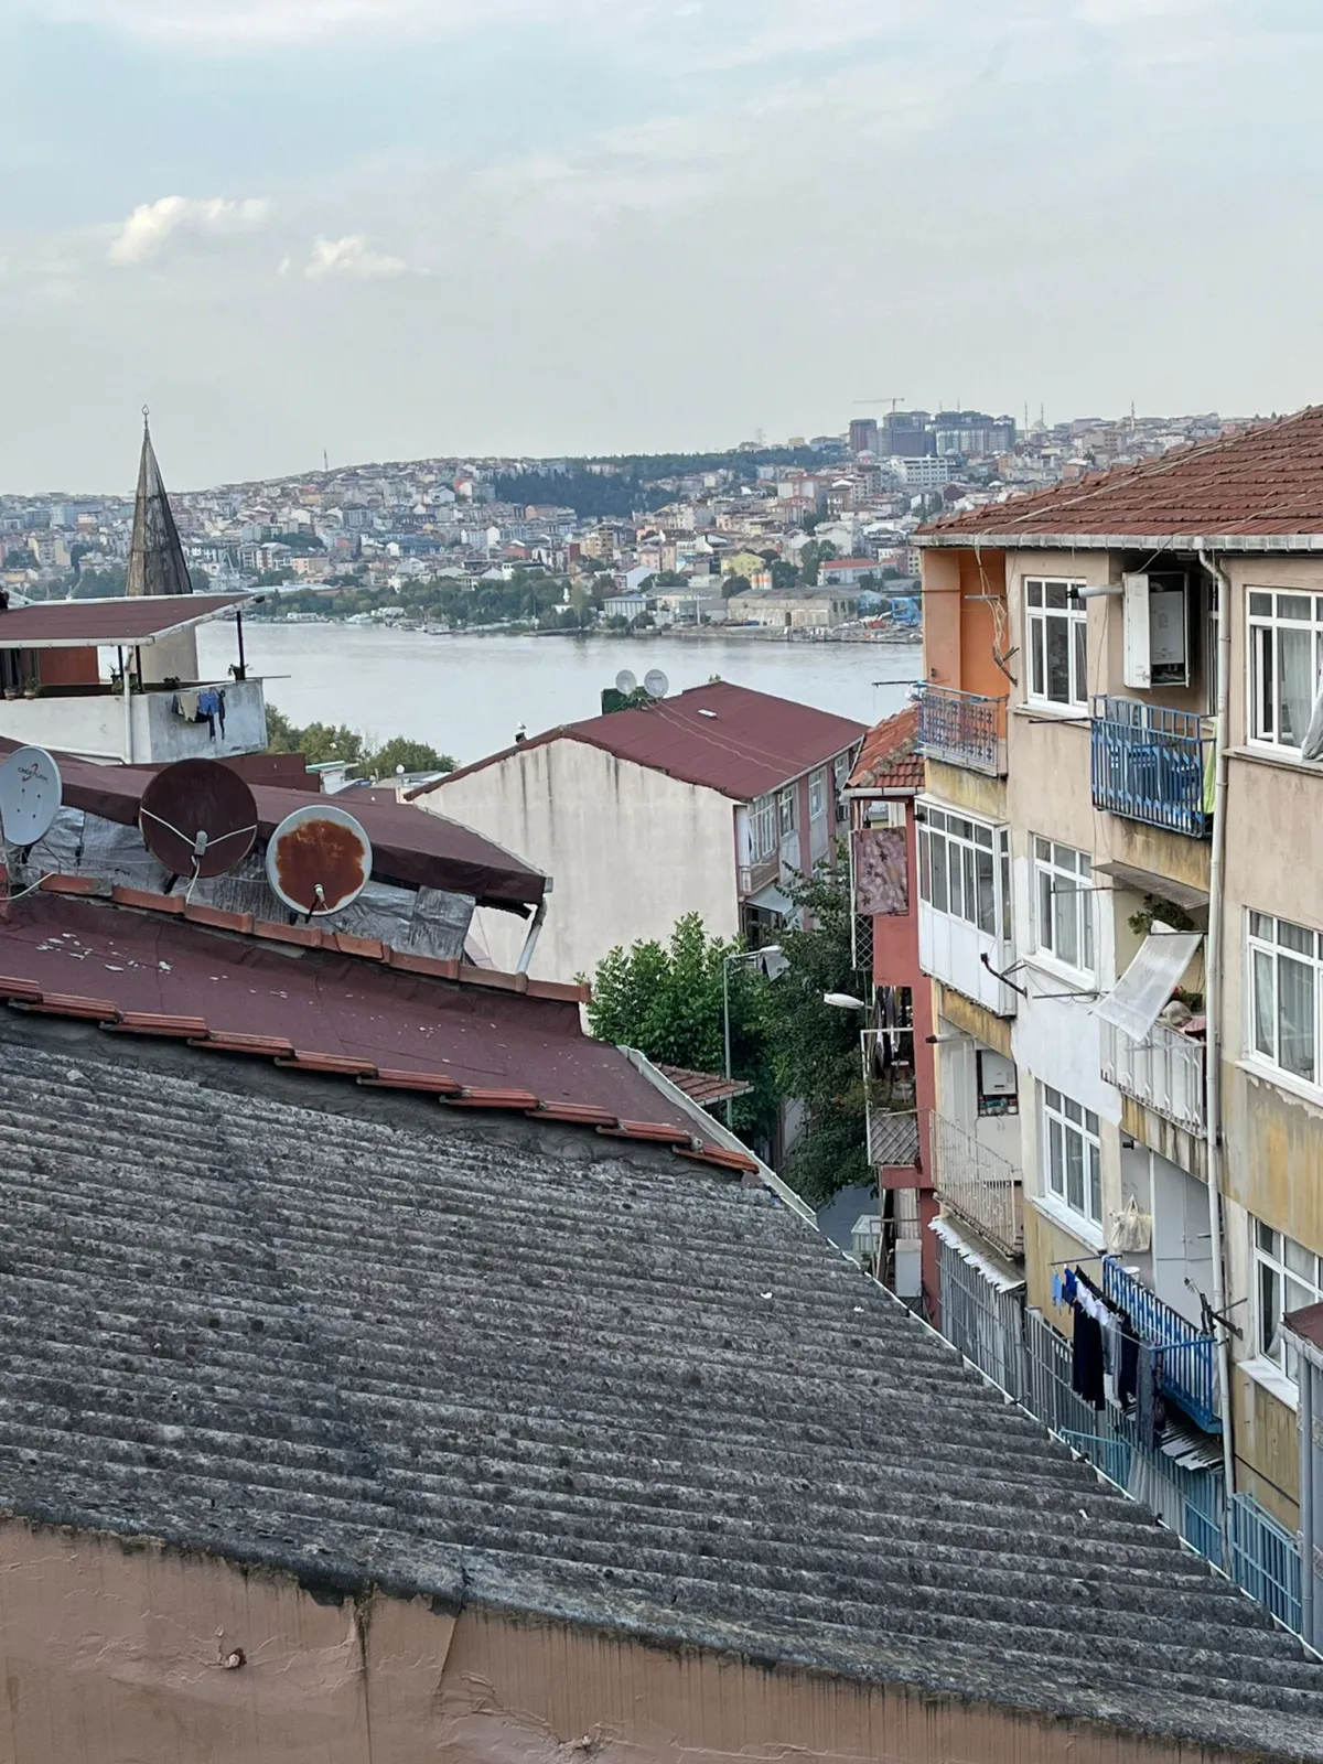
[[[1210,739],[1191,711],[1094,699],[1094,806],[1201,840]]]

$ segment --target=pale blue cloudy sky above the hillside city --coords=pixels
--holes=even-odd
[[[0,489],[1323,399],[1318,0],[0,0]]]

